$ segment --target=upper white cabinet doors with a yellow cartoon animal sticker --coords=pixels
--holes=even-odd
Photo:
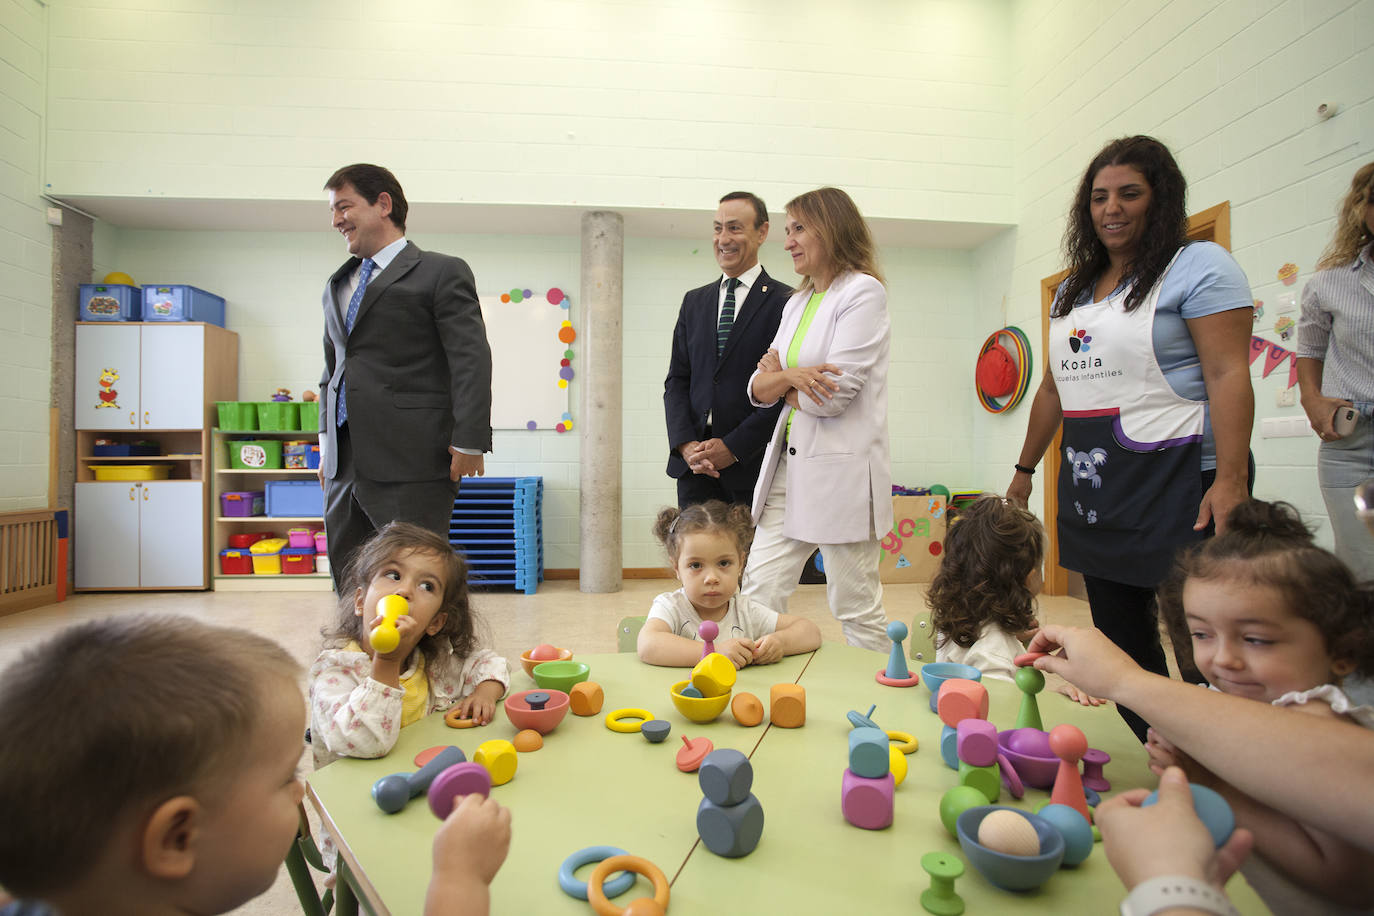
[[[202,428],[205,360],[203,324],[77,324],[76,428]]]

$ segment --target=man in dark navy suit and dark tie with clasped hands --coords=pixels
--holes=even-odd
[[[749,505],[782,411],[782,401],[753,407],[746,390],[791,295],[758,264],[767,238],[768,207],[758,196],[723,196],[712,240],[721,276],[683,297],[664,382],[668,477],[677,479],[682,508],[706,500]]]

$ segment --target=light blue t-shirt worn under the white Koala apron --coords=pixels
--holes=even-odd
[[[1120,288],[1120,287],[1118,287]],[[1063,291],[1061,284],[1059,291]],[[1083,291],[1074,308],[1092,301],[1092,287]],[[1193,242],[1164,275],[1160,301],[1154,306],[1154,358],[1165,380],[1180,397],[1206,400],[1202,363],[1189,334],[1189,319],[1201,319],[1231,309],[1252,309],[1250,282],[1231,253],[1215,242]],[[1202,470],[1216,467],[1216,442],[1212,439],[1212,415],[1208,409],[1202,435]]]

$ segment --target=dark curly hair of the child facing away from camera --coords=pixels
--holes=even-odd
[[[1026,580],[1043,559],[1040,519],[1000,496],[974,500],[949,525],[940,570],[926,591],[936,643],[969,648],[987,623],[1009,633],[1029,629],[1035,595]]]

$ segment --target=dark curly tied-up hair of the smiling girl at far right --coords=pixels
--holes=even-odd
[[[1191,628],[1183,607],[1183,585],[1190,578],[1274,589],[1289,611],[1320,630],[1334,661],[1374,676],[1374,584],[1358,582],[1345,563],[1318,547],[1287,503],[1241,503],[1227,516],[1226,533],[1180,555],[1160,585],[1160,612],[1180,667],[1184,659],[1193,665]]]

